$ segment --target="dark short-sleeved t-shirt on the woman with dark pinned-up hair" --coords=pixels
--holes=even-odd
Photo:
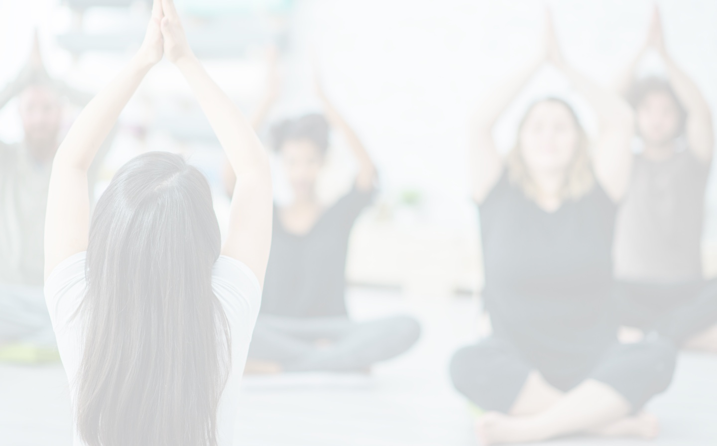
[[[303,235],[287,232],[275,209],[262,313],[306,318],[346,315],[348,236],[373,196],[374,190],[353,189]]]

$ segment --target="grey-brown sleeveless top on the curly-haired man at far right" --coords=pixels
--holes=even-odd
[[[615,225],[617,278],[647,283],[702,279],[710,166],[686,148],[663,161],[635,156]]]

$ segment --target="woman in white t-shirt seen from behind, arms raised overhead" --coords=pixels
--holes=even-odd
[[[90,223],[87,169],[163,55],[237,172],[224,245],[209,184],[170,153],[126,163]],[[75,445],[232,444],[271,224],[260,141],[194,57],[173,1],[155,0],[141,49],[82,111],[52,167],[45,296],[70,379]]]

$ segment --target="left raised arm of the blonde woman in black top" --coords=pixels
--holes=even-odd
[[[493,127],[528,80],[540,69],[544,60],[544,54],[539,54],[518,74],[494,88],[473,115],[468,156],[473,199],[479,204],[483,203],[503,172],[503,158],[493,140]]]

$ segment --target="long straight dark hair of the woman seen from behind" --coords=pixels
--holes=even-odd
[[[90,446],[214,446],[231,339],[212,292],[221,237],[204,176],[152,152],[98,201],[78,315],[77,429]]]

